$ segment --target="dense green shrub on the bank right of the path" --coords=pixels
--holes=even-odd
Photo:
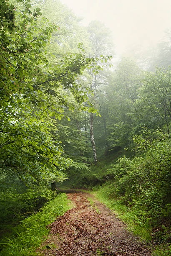
[[[171,217],[170,138],[158,132],[151,141],[142,135],[134,140],[139,156],[131,160],[123,156],[111,166],[108,172],[113,172],[114,180],[107,195],[121,197],[126,205],[146,212],[148,221],[157,224]]]

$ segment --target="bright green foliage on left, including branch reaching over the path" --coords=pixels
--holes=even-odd
[[[54,67],[49,64],[46,49],[56,26],[38,17],[40,8],[33,9],[30,1],[18,2],[22,12],[5,1],[0,8],[0,168],[6,175],[17,174],[27,185],[62,181],[70,159],[58,140],[53,141],[51,118],[61,120],[64,107],[88,109],[89,88],[83,90],[77,79],[84,69],[93,65],[98,72],[100,66],[97,58],[85,57],[82,43],[79,53],[64,56]],[[98,114],[94,108],[88,111]]]

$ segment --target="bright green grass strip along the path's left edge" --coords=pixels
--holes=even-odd
[[[0,243],[0,255],[7,256],[34,256],[38,255],[35,249],[48,236],[49,230],[46,226],[52,223],[57,216],[63,215],[71,208],[68,204],[66,194],[59,193],[54,200],[42,208],[41,212],[31,215],[21,224],[13,228],[10,237],[3,239]]]

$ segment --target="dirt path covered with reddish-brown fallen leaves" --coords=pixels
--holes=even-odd
[[[40,255],[151,255],[116,215],[95,200],[97,212],[87,200],[90,196],[85,192],[68,193],[75,206],[48,226],[50,235],[37,250]]]

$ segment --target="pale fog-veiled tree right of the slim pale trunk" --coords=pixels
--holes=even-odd
[[[131,141],[133,129],[137,124],[138,89],[142,85],[142,71],[136,62],[123,58],[113,75],[109,77],[106,94],[109,111],[108,140],[111,147],[124,147]]]

